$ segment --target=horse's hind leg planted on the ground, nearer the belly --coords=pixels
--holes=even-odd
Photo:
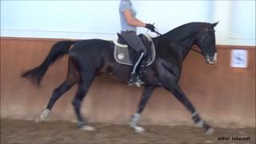
[[[94,78],[95,74],[93,72],[86,72],[85,74],[81,74],[81,82],[78,84],[77,94],[72,101],[75,114],[78,118],[78,128],[82,130],[94,130],[93,127],[87,126],[86,119],[81,114],[82,100],[86,96],[86,93],[89,90],[91,83],[94,81]]]

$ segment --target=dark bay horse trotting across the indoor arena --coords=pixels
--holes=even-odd
[[[191,22],[178,26],[166,34],[152,38],[156,47],[156,57],[150,66],[145,67],[143,74],[144,90],[142,98],[138,104],[137,112],[130,118],[130,126],[134,130],[141,132],[143,128],[138,126],[142,110],[149,101],[151,94],[157,87],[164,87],[175,98],[186,107],[192,114],[194,123],[212,133],[213,129],[198,114],[192,103],[186,98],[178,85],[180,79],[182,62],[192,46],[199,47],[201,54],[206,58],[208,64],[217,62],[217,50],[215,45],[214,26],[216,23]],[[86,96],[94,78],[99,74],[104,74],[114,80],[126,83],[131,66],[118,64],[114,60],[114,42],[102,39],[88,39],[79,41],[59,41],[51,48],[50,53],[41,65],[22,74],[22,77],[30,78],[32,82],[40,84],[46,70],[61,56],[68,54],[68,73],[62,85],[53,91],[46,109],[37,118],[38,122],[46,119],[53,108],[54,103],[70,90],[74,84],[78,84],[72,105],[78,118],[78,127],[83,130],[94,130],[86,124],[82,116],[80,107],[83,98]]]

